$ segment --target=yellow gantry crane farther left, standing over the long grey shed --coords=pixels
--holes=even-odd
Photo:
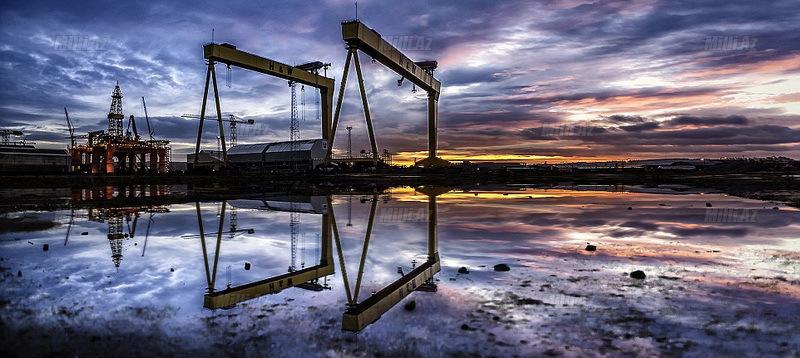
[[[219,92],[217,91],[217,77],[214,70],[214,63],[220,62],[228,66],[236,66],[265,75],[270,75],[285,79],[290,82],[301,83],[307,86],[318,88],[320,91],[320,107],[322,113],[322,139],[329,140],[331,131],[333,87],[334,80],[317,73],[319,68],[295,67],[265,57],[254,55],[248,52],[237,50],[231,44],[210,43],[203,46],[203,56],[208,61],[208,71],[206,72],[206,85],[203,95],[203,107],[201,109],[200,128],[197,132],[197,143],[195,147],[195,163],[200,153],[200,139],[203,131],[203,120],[205,119],[206,101],[208,99],[209,79],[213,80],[214,98],[217,103],[217,121],[219,122],[220,139],[222,142],[222,159],[225,164],[228,162],[228,153],[225,148],[225,139],[222,130],[222,110],[219,105]],[[330,141],[329,141],[330,142]]]

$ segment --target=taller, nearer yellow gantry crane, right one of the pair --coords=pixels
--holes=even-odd
[[[370,145],[372,147],[372,160],[378,161],[378,149],[375,142],[375,134],[370,118],[369,105],[367,103],[366,90],[364,89],[364,79],[361,74],[361,64],[358,59],[357,51],[360,50],[371,56],[375,61],[380,62],[392,71],[408,79],[414,85],[419,86],[428,94],[428,157],[419,161],[417,165],[423,167],[442,167],[450,163],[438,158],[437,151],[437,127],[439,122],[439,93],[442,84],[433,77],[433,70],[438,65],[436,61],[414,62],[404,55],[400,50],[392,46],[389,42],[381,38],[381,35],[364,25],[358,20],[345,21],[342,23],[342,39],[348,44],[347,58],[345,60],[342,83],[339,86],[339,98],[336,103],[336,112],[333,116],[333,128],[331,130],[331,144],[328,146],[326,161],[337,161],[332,159],[333,140],[336,137],[336,127],[339,121],[339,112],[342,107],[344,88],[347,81],[347,74],[350,67],[350,59],[355,62],[358,84],[361,91],[361,100],[364,107],[364,116],[367,122],[367,132],[369,134]],[[352,158],[338,161],[352,161]]]

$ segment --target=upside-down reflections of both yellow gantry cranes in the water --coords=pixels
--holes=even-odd
[[[425,261],[419,265],[415,264],[408,273],[402,273],[402,270],[399,270],[401,274],[399,278],[385,285],[380,290],[373,291],[371,295],[360,301],[359,297],[363,286],[364,272],[367,271],[366,266],[369,246],[370,242],[375,240],[372,233],[375,226],[378,203],[381,201],[379,193],[343,192],[325,196],[271,198],[269,200],[264,200],[263,205],[254,206],[261,210],[288,211],[290,213],[294,210],[295,212],[305,214],[320,215],[321,227],[317,264],[310,267],[297,268],[294,267],[294,262],[292,262],[293,265],[289,267],[288,272],[244,284],[231,285],[229,282],[228,285],[221,290],[216,287],[216,276],[220,255],[222,255],[223,234],[225,233],[222,230],[225,221],[226,204],[222,205],[222,210],[219,214],[219,220],[217,222],[218,230],[212,233],[216,239],[213,246],[214,251],[212,253],[210,243],[206,242],[206,233],[203,231],[202,210],[198,202],[196,203],[196,210],[200,234],[192,236],[200,237],[203,251],[205,275],[208,284],[203,305],[210,309],[231,308],[237,303],[265,295],[279,294],[283,290],[292,287],[313,291],[330,289],[328,276],[334,275],[336,272],[336,262],[334,259],[334,251],[336,251],[336,261],[338,261],[339,264],[342,285],[347,300],[346,309],[342,316],[342,329],[347,331],[363,330],[414,291],[436,292],[434,275],[441,270],[437,237],[436,196],[446,193],[448,190],[448,188],[441,187],[417,188],[418,192],[428,196],[427,250],[425,252]],[[369,199],[362,200],[362,202],[369,201],[370,203],[369,218],[362,241],[360,262],[355,275],[355,285],[352,288],[350,281],[352,273],[348,274],[342,239],[334,212],[334,195],[339,196],[339,194],[348,196],[363,194]],[[380,238],[378,238],[378,240],[380,240]],[[295,244],[296,242],[293,240],[291,247],[292,253],[296,250]],[[249,263],[246,265],[249,266]],[[246,266],[246,269],[249,269],[248,266]]]

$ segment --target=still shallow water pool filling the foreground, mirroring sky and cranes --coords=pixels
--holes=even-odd
[[[780,203],[637,186],[118,194],[2,214],[2,350],[800,353],[800,211]]]

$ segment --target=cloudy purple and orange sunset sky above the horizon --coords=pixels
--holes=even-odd
[[[200,111],[212,28],[216,42],[277,61],[330,62],[338,85],[340,22],[353,18],[353,1],[332,0],[3,2],[0,127],[63,148],[63,107],[78,133],[106,129],[119,81],[126,117],[144,132],[146,97],[156,137],[173,142],[177,160],[193,150],[198,122],[180,115]],[[439,62],[446,159],[800,159],[796,0],[362,0],[358,18],[396,44],[422,40],[405,53]],[[424,93],[398,87],[399,76],[367,56],[362,64],[378,148],[424,157]],[[256,123],[240,129],[240,143],[288,139],[286,81],[234,68],[229,88],[225,68],[217,72],[222,111]],[[369,145],[354,79],[335,148],[346,148],[353,126],[357,151]],[[311,88],[305,102],[301,137],[318,138]],[[215,127],[206,128],[204,147],[216,148]]]

